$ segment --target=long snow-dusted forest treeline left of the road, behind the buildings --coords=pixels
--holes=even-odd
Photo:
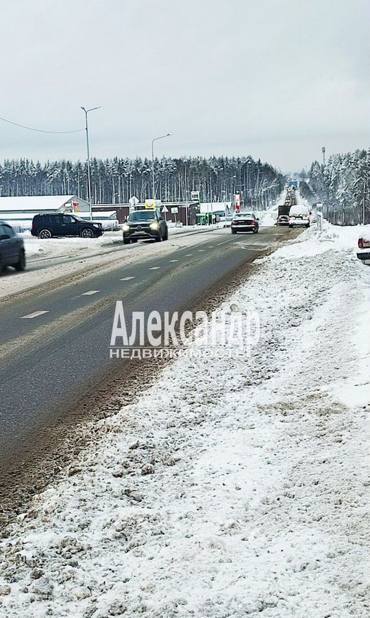
[[[162,157],[154,165],[156,198],[187,201],[199,190],[202,201],[223,201],[243,191],[255,205],[266,207],[284,187],[284,176],[269,163],[252,157]],[[149,159],[92,159],[92,201],[95,204],[127,203],[152,197]],[[29,159],[5,160],[0,165],[3,196],[76,194],[88,196],[87,163]],[[246,199],[246,202],[248,202]]]

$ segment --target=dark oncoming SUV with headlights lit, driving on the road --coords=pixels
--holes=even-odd
[[[123,242],[136,240],[169,240],[169,231],[164,218],[154,209],[135,210],[123,224]]]

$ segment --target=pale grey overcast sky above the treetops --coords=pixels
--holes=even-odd
[[[249,155],[283,172],[370,146],[369,0],[3,0],[0,116],[96,157]],[[0,122],[0,160],[84,133]]]

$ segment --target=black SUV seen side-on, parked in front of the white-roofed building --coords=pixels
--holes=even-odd
[[[103,233],[101,223],[84,221],[73,214],[63,212],[35,215],[32,220],[32,236],[52,238],[52,236],[81,236],[97,238]]]

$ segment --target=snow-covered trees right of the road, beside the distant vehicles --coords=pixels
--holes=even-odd
[[[330,222],[370,222],[370,148],[332,155],[326,165],[314,161],[308,175],[308,183],[299,185],[301,195],[311,205],[323,203],[323,214]]]

